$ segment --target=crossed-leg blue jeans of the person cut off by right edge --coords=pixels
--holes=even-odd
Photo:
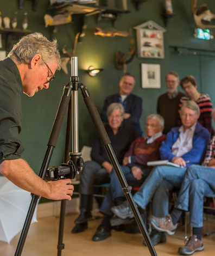
[[[193,164],[187,168],[175,208],[190,211],[191,227],[203,227],[204,196],[215,192],[215,169]]]

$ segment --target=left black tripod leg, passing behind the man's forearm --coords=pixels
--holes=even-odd
[[[50,158],[52,157],[53,149],[56,146],[56,142],[58,141],[58,136],[60,133],[60,129],[62,126],[62,123],[64,121],[64,117],[66,114],[66,109],[70,100],[71,96],[71,88],[69,86],[64,88],[64,94],[61,97],[60,105],[58,108],[58,112],[56,113],[56,117],[54,120],[54,124],[52,127],[52,131],[50,133],[50,137],[48,140],[48,147],[46,150],[46,155],[43,159],[42,167],[40,169],[40,178],[43,180],[45,179],[45,175],[47,172],[47,168],[50,162]],[[30,223],[34,215],[34,211],[36,208],[37,201],[39,199],[39,196],[36,196],[35,194],[32,195],[31,203],[29,206],[28,214],[26,217],[26,221],[24,222],[22,233],[20,236],[20,240],[18,241],[18,245],[16,248],[15,256],[20,256],[22,254],[22,250],[24,247],[24,242],[26,241],[26,237],[28,235],[28,230],[30,228]]]

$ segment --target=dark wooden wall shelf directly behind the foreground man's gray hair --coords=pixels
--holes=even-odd
[[[21,29],[12,29],[12,28],[5,28],[0,29],[0,34],[2,38],[5,39],[5,50],[7,52],[10,51],[11,41],[18,40],[21,36],[34,33],[33,31],[22,31]]]

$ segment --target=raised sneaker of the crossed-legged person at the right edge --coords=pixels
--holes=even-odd
[[[178,223],[173,225],[172,218],[169,214],[161,218],[150,216],[149,222],[156,230],[166,232],[168,235],[173,235],[175,233],[175,229],[178,226]]]

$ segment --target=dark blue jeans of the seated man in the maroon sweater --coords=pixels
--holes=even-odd
[[[128,182],[128,185],[132,186],[132,188],[141,186],[143,181],[146,179],[146,177],[150,173],[149,168],[138,166],[143,170],[144,174],[143,174],[141,180],[137,180],[136,178],[134,178],[134,175],[131,173],[130,167],[128,167],[128,166],[120,166],[120,167],[125,176],[125,179]],[[100,207],[100,212],[102,212],[103,214],[108,214],[108,215],[112,216],[113,213],[110,209],[113,206],[115,206],[114,200],[117,197],[125,197],[125,195],[123,193],[122,187],[117,178],[116,172],[114,169],[112,169],[112,172],[110,173],[110,187],[109,187],[109,190],[106,193],[106,196],[105,196],[103,203]]]

